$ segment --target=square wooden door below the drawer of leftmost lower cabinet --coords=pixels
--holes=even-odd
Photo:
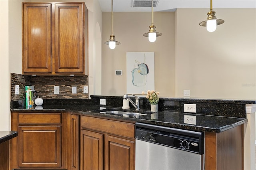
[[[19,167],[61,167],[61,126],[19,126]]]

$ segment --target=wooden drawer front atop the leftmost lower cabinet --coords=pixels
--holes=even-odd
[[[20,113],[18,122],[22,124],[61,124],[61,113]]]

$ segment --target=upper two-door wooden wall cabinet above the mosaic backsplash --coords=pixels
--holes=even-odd
[[[23,73],[88,75],[84,2],[23,3]]]

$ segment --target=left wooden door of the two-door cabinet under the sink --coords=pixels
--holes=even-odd
[[[103,170],[104,134],[81,130],[80,170]]]

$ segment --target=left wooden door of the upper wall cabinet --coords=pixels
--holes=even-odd
[[[52,72],[52,4],[23,4],[23,73]]]

